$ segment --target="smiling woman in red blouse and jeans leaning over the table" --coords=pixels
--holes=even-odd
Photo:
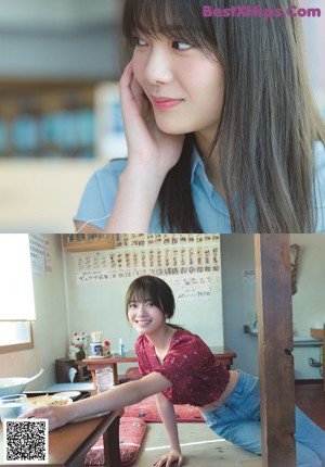
[[[174,298],[164,280],[153,276],[133,280],[126,308],[140,335],[135,351],[144,377],[70,405],[36,408],[22,418],[47,417],[53,430],[78,417],[125,407],[156,394],[170,442],[170,452],[157,459],[156,467],[183,464],[173,404],[198,406],[217,434],[261,454],[258,379],[226,370],[198,336],[167,323],[174,314]],[[298,408],[295,437],[297,466],[324,467],[325,431]]]

